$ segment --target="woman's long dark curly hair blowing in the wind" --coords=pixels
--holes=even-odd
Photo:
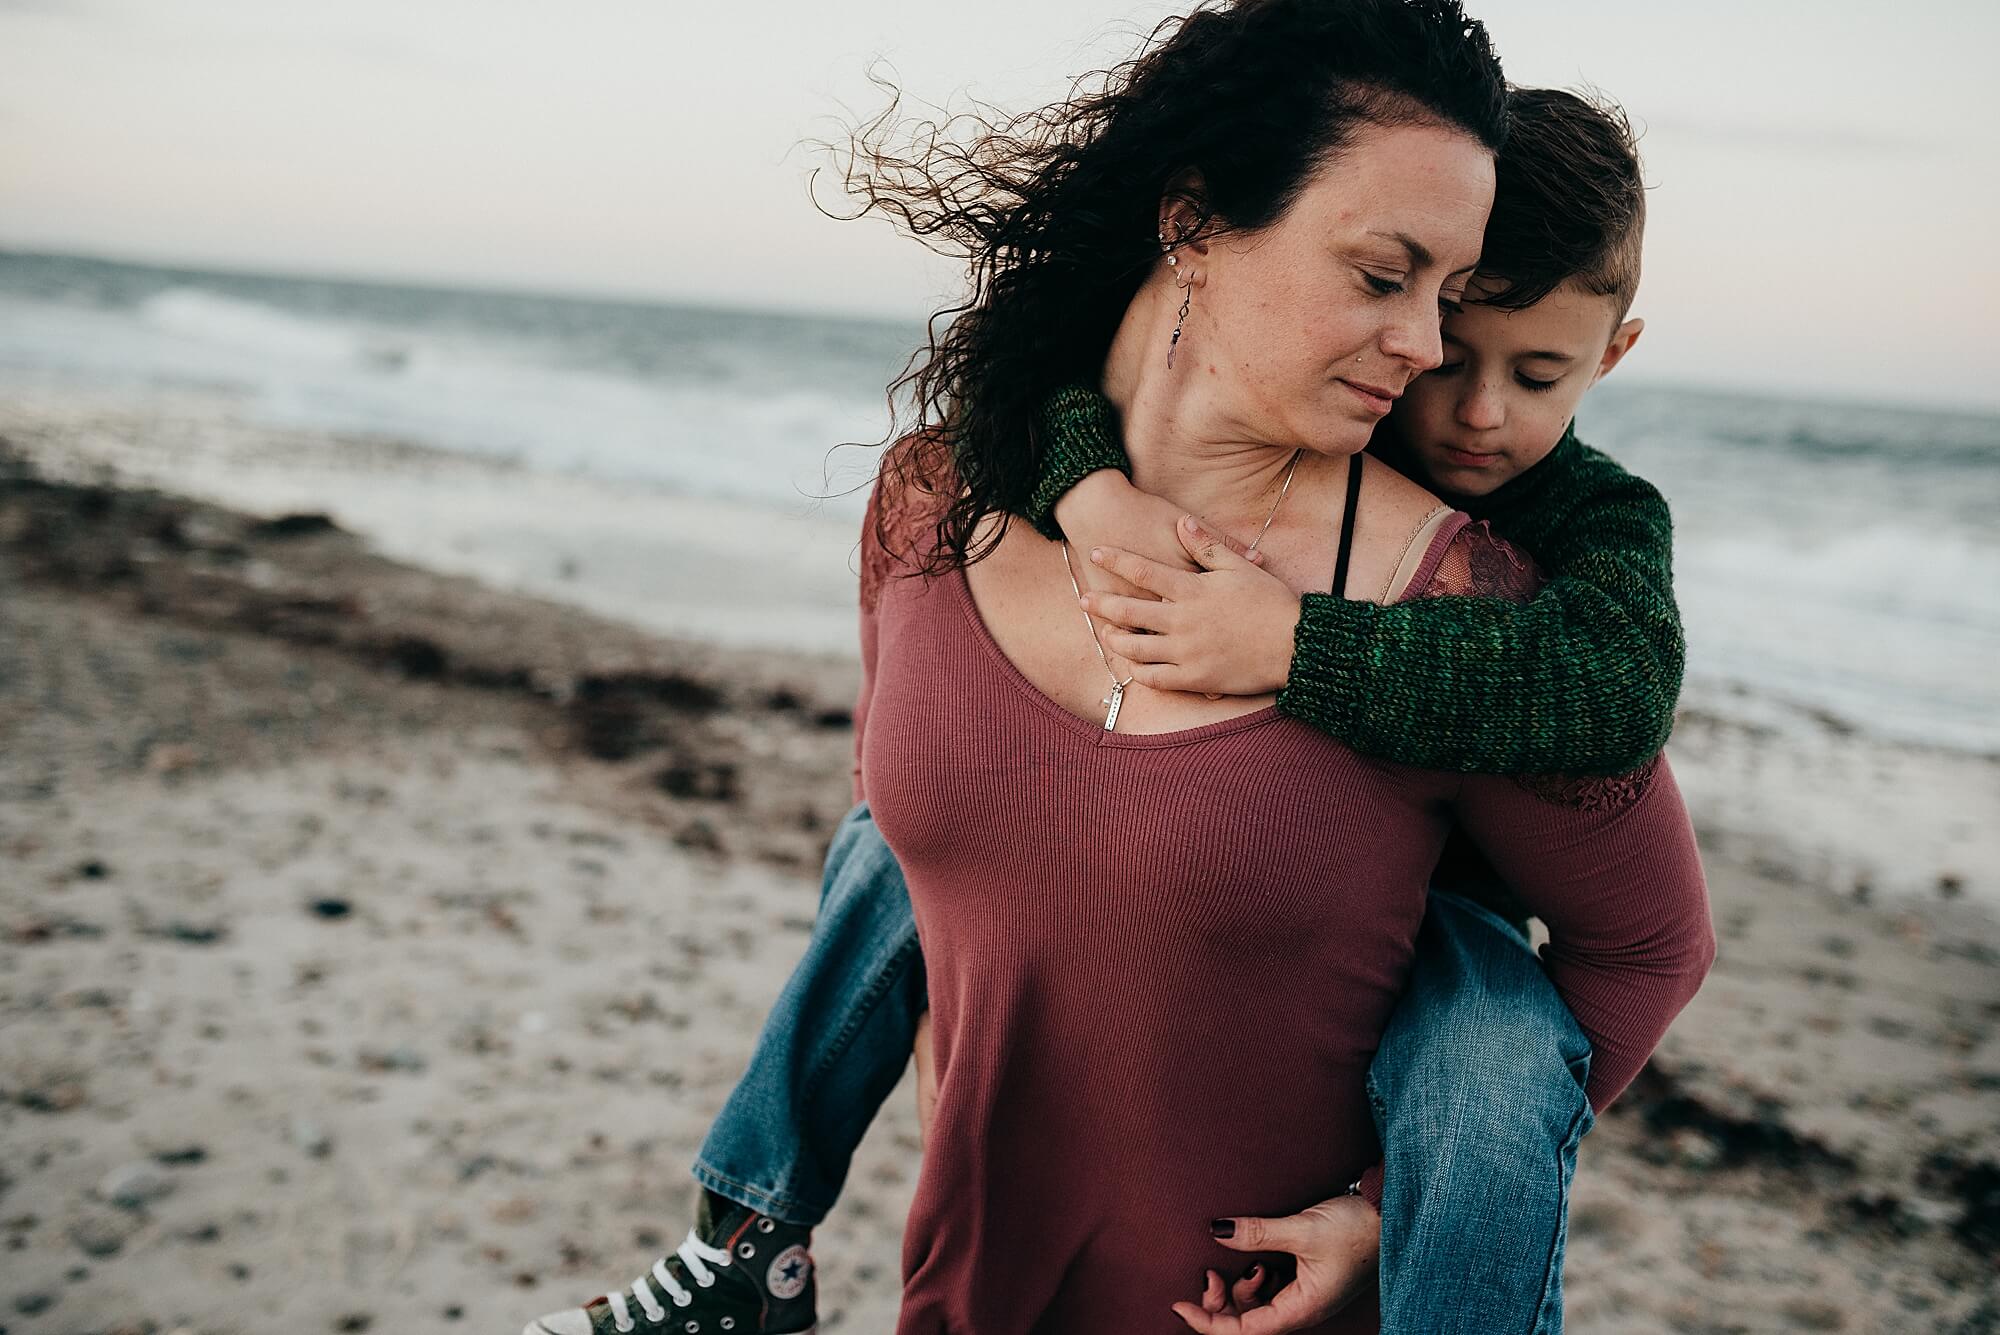
[[[1042,468],[1040,404],[1098,384],[1112,334],[1162,256],[1162,200],[1194,234],[1276,222],[1362,124],[1446,124],[1498,152],[1506,84],[1458,0],[1236,0],[1162,22],[1138,56],[1018,116],[904,128],[890,106],[836,154],[852,218],[888,214],[970,268],[928,346],[888,386],[884,484],[938,498],[920,564],[986,556]],[[1200,180],[1194,194],[1178,182]],[[1188,238],[1176,238],[1188,240]],[[942,326],[942,328],[940,328]],[[896,428],[908,392],[914,422]],[[878,484],[878,486],[884,486]],[[896,550],[894,534],[876,540]],[[900,546],[900,544],[898,544]]]

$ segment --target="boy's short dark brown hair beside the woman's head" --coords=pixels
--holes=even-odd
[[[1508,90],[1480,302],[1524,310],[1566,282],[1618,300],[1638,292],[1646,184],[1624,108],[1560,88]]]

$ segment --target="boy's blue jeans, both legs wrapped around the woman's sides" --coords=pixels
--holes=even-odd
[[[834,831],[806,957],[694,1177],[818,1225],[902,1079],[928,1005],[916,919],[868,803]],[[1368,1071],[1382,1139],[1382,1331],[1562,1331],[1562,1247],[1590,1043],[1526,937],[1434,891]]]

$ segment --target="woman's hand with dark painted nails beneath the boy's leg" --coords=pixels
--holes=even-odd
[[[1234,1251],[1290,1251],[1298,1277],[1258,1305],[1260,1275],[1252,1271],[1224,1291],[1208,1271],[1200,1303],[1174,1303],[1174,1313],[1202,1335],[1280,1335],[1326,1321],[1374,1277],[1382,1255],[1382,1215],[1358,1195],[1336,1195],[1288,1219],[1226,1219]]]

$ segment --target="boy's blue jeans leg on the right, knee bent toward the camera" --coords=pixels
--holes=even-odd
[[[1504,917],[1432,893],[1368,1071],[1382,1335],[1560,1335],[1590,1041]]]

